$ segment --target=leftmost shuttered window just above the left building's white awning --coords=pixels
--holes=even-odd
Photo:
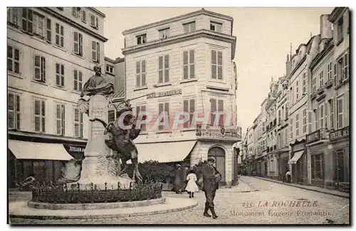
[[[20,129],[20,95],[9,92],[7,104],[7,119],[9,129]]]

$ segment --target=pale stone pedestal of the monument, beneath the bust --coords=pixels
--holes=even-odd
[[[89,118],[102,119],[108,122],[108,102],[104,95],[94,95],[89,102]],[[130,187],[130,178],[116,176],[116,166],[112,159],[112,151],[106,146],[105,139],[108,135],[105,133],[105,127],[100,122],[89,122],[88,143],[84,150],[85,159],[83,160],[80,180],[70,183],[68,188],[77,188],[80,190],[90,189],[91,183],[94,188],[115,189],[120,182],[121,188]],[[75,185],[75,186],[74,186]]]

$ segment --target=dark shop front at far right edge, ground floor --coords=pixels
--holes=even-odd
[[[330,133],[330,153],[333,157],[333,181],[339,190],[349,190],[350,185],[350,136],[349,127]]]

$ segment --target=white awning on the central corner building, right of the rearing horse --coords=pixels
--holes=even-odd
[[[192,151],[197,141],[178,141],[152,144],[136,144],[138,161],[158,161],[160,163],[183,161]]]

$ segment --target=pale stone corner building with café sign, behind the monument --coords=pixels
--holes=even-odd
[[[123,32],[126,97],[142,96],[132,105],[137,114],[152,117],[147,115],[135,140],[140,162],[186,159],[194,165],[214,156],[222,181],[234,181],[232,145],[241,140],[241,128],[235,119],[232,23],[230,16],[201,9]],[[174,126],[175,112],[189,119]],[[199,112],[211,112],[202,125]]]

